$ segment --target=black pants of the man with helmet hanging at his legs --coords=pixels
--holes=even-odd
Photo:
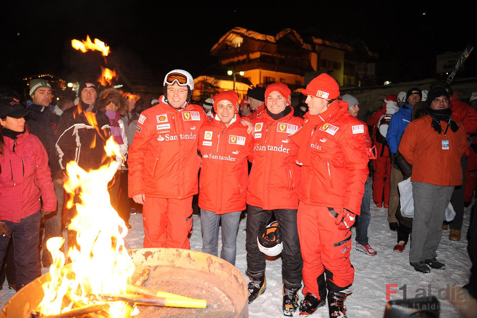
[[[260,223],[270,222],[272,212],[280,225],[282,233],[282,279],[291,287],[301,287],[301,270],[303,258],[300,252],[300,241],[296,226],[297,209],[262,210],[257,206],[248,205],[247,209],[247,275],[257,278],[265,273],[265,258],[267,255],[258,249],[257,235]]]

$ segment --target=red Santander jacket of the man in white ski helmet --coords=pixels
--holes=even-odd
[[[193,104],[179,111],[163,97],[137,120],[128,151],[129,197],[185,199],[198,192],[197,134],[206,115]]]

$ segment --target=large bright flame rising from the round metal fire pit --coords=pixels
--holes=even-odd
[[[110,137],[105,146],[106,154],[119,154],[119,146]],[[63,238],[53,237],[46,247],[53,256],[49,269],[51,281],[43,285],[45,297],[39,305],[43,315],[59,315],[75,307],[99,303],[94,295],[126,293],[134,264],[124,247],[128,230],[124,221],[110,204],[107,190],[119,163],[111,160],[98,170],[85,171],[76,162],[68,162],[69,179],[65,190],[71,194],[79,188],[80,203],[75,203],[77,215],[68,229],[77,232],[79,249],[68,250],[71,267],[65,267],[65,255],[60,248]],[[72,199],[68,205],[73,204]],[[91,296],[93,295],[93,296]],[[123,317],[129,313],[127,304],[110,303],[108,317]]]

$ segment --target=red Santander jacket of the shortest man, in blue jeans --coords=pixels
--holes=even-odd
[[[228,127],[220,120],[205,123],[199,130],[202,154],[199,178],[199,206],[215,214],[247,208],[247,156],[251,136],[235,116]]]

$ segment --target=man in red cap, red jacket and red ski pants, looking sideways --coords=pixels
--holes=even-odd
[[[308,95],[308,121],[291,136],[302,165],[297,222],[305,298],[300,313],[323,306],[328,287],[330,316],[338,316],[345,314],[343,302],[354,279],[350,227],[360,214],[368,174],[366,132],[331,76],[320,74],[302,93]]]

